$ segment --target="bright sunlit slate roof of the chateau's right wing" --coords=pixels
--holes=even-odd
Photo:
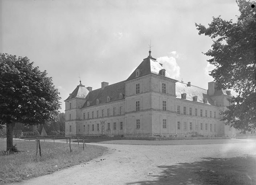
[[[193,101],[193,96],[197,96],[197,102],[203,103],[203,98],[207,98],[208,104],[214,104],[207,94],[207,90],[193,85],[187,86],[182,82],[176,82],[176,98],[181,99],[181,94],[186,93],[186,100]]]

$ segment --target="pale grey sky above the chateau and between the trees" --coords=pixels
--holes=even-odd
[[[235,0],[0,0],[0,53],[46,70],[64,100],[79,85],[126,80],[148,56],[171,76],[208,88],[213,41],[195,23],[237,20]]]

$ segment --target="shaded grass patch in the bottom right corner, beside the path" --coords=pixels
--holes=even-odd
[[[256,185],[256,156],[207,159],[196,164],[203,184]]]

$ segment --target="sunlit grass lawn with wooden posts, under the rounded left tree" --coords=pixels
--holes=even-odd
[[[6,140],[0,139],[0,184],[51,174],[60,169],[90,161],[103,154],[106,147],[40,141],[42,157],[36,155],[36,141],[14,140],[19,151],[4,155]]]

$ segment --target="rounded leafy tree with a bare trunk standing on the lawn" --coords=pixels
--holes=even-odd
[[[15,150],[15,123],[45,124],[58,117],[59,108],[59,92],[46,71],[27,57],[0,54],[0,124],[6,124],[7,151]]]

